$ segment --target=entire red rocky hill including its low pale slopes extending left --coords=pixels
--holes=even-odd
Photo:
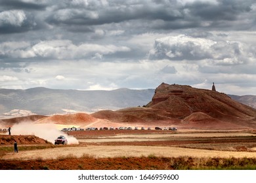
[[[95,118],[139,125],[196,129],[256,128],[256,110],[224,93],[162,83],[146,107],[99,111]]]

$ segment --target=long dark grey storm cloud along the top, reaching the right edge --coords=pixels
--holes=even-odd
[[[85,3],[87,2],[87,3]],[[101,2],[101,3],[100,3]],[[151,29],[228,27],[251,12],[253,1],[66,1],[47,18],[53,25],[104,25],[133,22]],[[251,18],[249,18],[251,19]],[[133,22],[131,29],[138,24]],[[240,27],[242,28],[242,27]]]

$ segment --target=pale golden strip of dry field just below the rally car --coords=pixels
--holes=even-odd
[[[197,158],[256,158],[256,152],[230,152],[219,150],[199,150],[192,148],[179,148],[167,146],[79,146],[63,147],[46,150],[32,150],[19,153],[9,153],[3,159],[56,159],[62,156],[91,156],[94,158],[114,157],[141,157],[141,156],[164,156],[179,157],[192,156]]]

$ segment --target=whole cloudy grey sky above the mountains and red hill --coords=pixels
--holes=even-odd
[[[0,0],[0,88],[256,95],[255,0]]]

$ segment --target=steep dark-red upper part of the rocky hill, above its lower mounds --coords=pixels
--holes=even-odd
[[[147,105],[169,112],[172,117],[185,118],[194,112],[218,119],[254,118],[256,110],[232,100],[224,93],[179,84],[162,83]]]

